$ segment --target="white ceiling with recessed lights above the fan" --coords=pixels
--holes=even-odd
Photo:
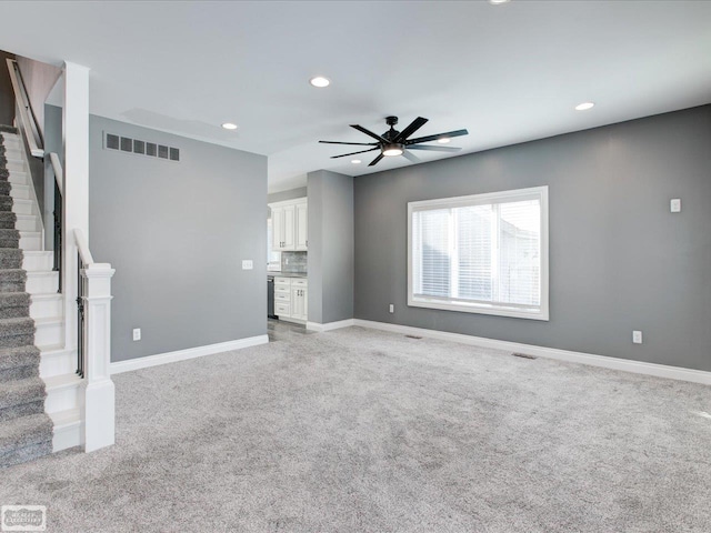
[[[412,164],[317,142],[388,114],[468,153],[711,102],[709,1],[3,1],[0,49],[91,68],[92,113],[269,155],[270,192]]]

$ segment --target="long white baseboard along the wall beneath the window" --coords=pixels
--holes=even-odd
[[[522,344],[519,342],[499,341],[497,339],[487,339],[483,336],[463,335],[461,333],[425,330],[423,328],[389,324],[385,322],[373,322],[370,320],[354,319],[352,325],[371,328],[373,330],[390,331],[393,333],[428,336],[430,339],[460,342],[462,344],[473,344],[482,348],[505,350],[508,352],[522,352],[530,355],[535,355],[538,358],[557,359],[559,361],[568,361],[571,363],[581,363],[591,366],[601,366],[603,369],[621,370],[624,372],[634,372],[637,374],[654,375],[657,378],[668,378],[671,380],[690,381],[692,383],[711,385],[711,372],[704,372],[701,370],[682,369],[681,366],[669,366],[665,364],[657,363],[644,363],[641,361],[632,361],[629,359],[609,358],[607,355],[593,355],[591,353],[572,352],[569,350],[559,350],[555,348],[534,346],[532,344]]]

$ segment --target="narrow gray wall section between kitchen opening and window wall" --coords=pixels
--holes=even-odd
[[[353,178],[308,174],[309,321],[353,318]]]

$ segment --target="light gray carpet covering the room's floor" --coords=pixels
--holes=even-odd
[[[711,389],[349,328],[116,376],[53,532],[708,532]]]

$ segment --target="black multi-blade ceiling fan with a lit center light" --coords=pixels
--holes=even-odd
[[[461,148],[453,147],[438,147],[431,144],[421,144],[422,142],[430,141],[439,141],[440,143],[449,142],[452,137],[467,135],[469,132],[467,130],[457,130],[457,131],[448,131],[447,133],[437,133],[434,135],[419,137],[417,139],[408,139],[415,131],[424,125],[428,119],[422,117],[418,117],[412,121],[410,125],[408,125],[404,130],[398,131],[394,129],[394,125],[398,123],[397,117],[387,117],[385,123],[390,127],[388,131],[385,131],[382,135],[378,133],[373,133],[370,130],[367,130],[362,125],[351,124],[351,128],[356,128],[358,131],[365,133],[369,137],[372,137],[378,142],[339,142],[339,141],[319,141],[324,144],[356,144],[361,147],[373,147],[368,150],[360,150],[358,152],[343,153],[342,155],[333,155],[331,159],[346,158],[348,155],[356,155],[357,153],[365,153],[373,152],[375,150],[380,150],[380,153],[375,159],[373,159],[368,167],[372,167],[373,164],[378,164],[378,162],[382,158],[402,155],[413,163],[419,163],[420,160],[414,157],[409,150],[430,150],[435,152],[458,152]]]

